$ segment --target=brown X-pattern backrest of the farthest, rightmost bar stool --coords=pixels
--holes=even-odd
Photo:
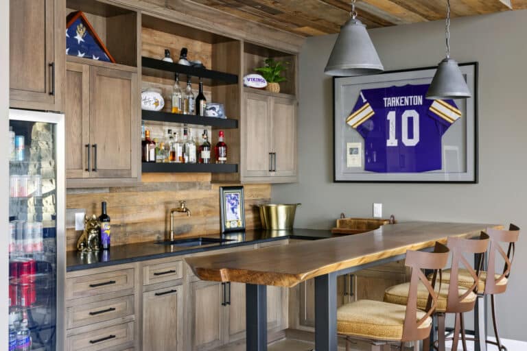
[[[491,237],[491,247],[489,248],[489,267],[487,267],[487,280],[485,280],[485,293],[503,293],[507,289],[507,281],[511,274],[515,253],[515,243],[519,237],[519,227],[511,224],[508,230],[497,230],[487,228],[487,234]],[[507,253],[502,248],[502,244],[508,244]],[[496,252],[505,261],[503,271],[496,277]]]

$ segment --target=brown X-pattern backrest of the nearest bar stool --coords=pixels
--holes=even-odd
[[[402,341],[415,341],[425,339],[430,334],[430,328],[419,328],[437,306],[438,293],[434,291],[435,279],[429,282],[423,269],[432,269],[434,278],[439,273],[439,285],[441,288],[441,269],[445,267],[448,261],[448,247],[441,243],[436,243],[433,252],[407,251],[404,264],[412,268],[410,278],[410,291],[408,291],[408,302],[406,302],[406,315],[404,316],[403,337]],[[417,289],[419,284],[425,285],[428,289],[428,304],[426,314],[417,320]],[[416,322],[417,320],[417,322]]]

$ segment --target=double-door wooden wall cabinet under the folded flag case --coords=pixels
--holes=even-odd
[[[69,187],[139,179],[137,73],[67,62]]]

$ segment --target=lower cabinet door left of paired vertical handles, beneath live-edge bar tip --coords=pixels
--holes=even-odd
[[[189,321],[191,350],[208,350],[224,340],[224,285],[218,282],[191,282]]]

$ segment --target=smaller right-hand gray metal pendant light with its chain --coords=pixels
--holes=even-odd
[[[450,58],[450,0],[447,0],[447,57],[439,62],[436,74],[426,93],[427,99],[466,99],[471,97],[458,62]]]

